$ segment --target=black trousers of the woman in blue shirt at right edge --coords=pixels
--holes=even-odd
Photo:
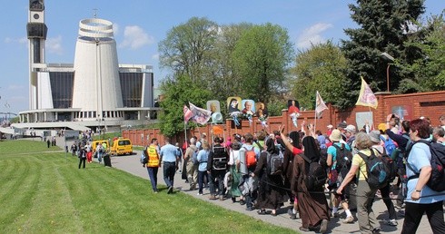
[[[442,201],[431,204],[418,204],[406,202],[405,220],[401,234],[416,233],[419,228],[421,217],[427,213],[428,221],[434,234],[445,233],[445,222],[443,220]]]

